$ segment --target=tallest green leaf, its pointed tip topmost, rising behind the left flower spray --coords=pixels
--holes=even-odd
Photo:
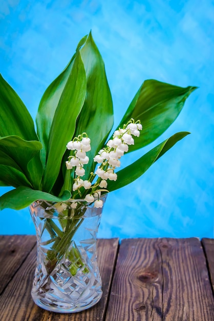
[[[87,95],[77,120],[75,136],[86,132],[91,139],[90,162],[85,166],[88,177],[93,157],[103,147],[114,124],[112,96],[105,74],[104,63],[90,33],[80,49],[87,77]]]

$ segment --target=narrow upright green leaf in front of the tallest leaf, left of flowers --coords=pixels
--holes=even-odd
[[[65,88],[56,108],[49,135],[44,191],[50,192],[59,173],[66,145],[75,132],[76,119],[84,104],[86,76],[80,53],[72,66]]]

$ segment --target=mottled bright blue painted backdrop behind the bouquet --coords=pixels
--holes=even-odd
[[[200,87],[149,149],[177,131],[191,135],[108,196],[99,237],[213,237],[213,19],[211,0],[1,0],[0,72],[34,119],[41,95],[90,30],[105,62],[115,126],[145,79]],[[141,154],[124,156],[123,165]],[[28,209],[2,211],[0,233],[34,233]]]

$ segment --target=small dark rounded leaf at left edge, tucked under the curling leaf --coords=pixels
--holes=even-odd
[[[22,171],[8,165],[0,165],[0,186],[29,186],[31,183]]]

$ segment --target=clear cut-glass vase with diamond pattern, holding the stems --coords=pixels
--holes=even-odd
[[[100,197],[105,201],[106,196]],[[39,307],[71,313],[102,296],[96,243],[102,208],[78,202],[38,200],[30,206],[37,235],[32,298]]]

